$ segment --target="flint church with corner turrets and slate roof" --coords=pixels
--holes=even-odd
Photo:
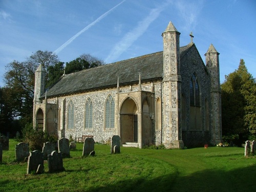
[[[162,38],[161,52],[63,74],[47,91],[40,65],[35,129],[58,138],[93,136],[96,142],[119,135],[123,146],[139,148],[219,143],[219,53],[210,45],[204,64],[192,40],[180,47],[180,33],[171,22]]]

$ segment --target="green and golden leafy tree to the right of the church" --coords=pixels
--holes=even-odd
[[[239,144],[256,132],[256,83],[240,60],[237,70],[225,76],[222,87],[222,132]]]

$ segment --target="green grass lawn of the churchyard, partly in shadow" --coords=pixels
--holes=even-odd
[[[0,164],[0,191],[256,191],[256,158],[241,147],[141,150],[95,144],[94,157],[81,158],[82,144],[63,159],[64,172],[27,175],[15,162],[9,141]]]

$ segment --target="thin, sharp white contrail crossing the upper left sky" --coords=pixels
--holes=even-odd
[[[119,3],[118,5],[116,5],[115,7],[113,7],[112,9],[110,9],[109,11],[105,12],[104,14],[102,14],[99,18],[97,18],[93,23],[89,24],[88,26],[86,26],[85,28],[83,28],[81,31],[79,31],[77,34],[75,34],[73,37],[71,37],[67,42],[65,42],[65,44],[63,44],[62,46],[60,46],[58,49],[56,49],[53,53],[58,54],[62,49],[64,49],[65,47],[67,47],[69,44],[71,44],[71,42],[78,37],[80,34],[82,34],[84,31],[88,30],[90,27],[92,27],[94,24],[98,23],[102,18],[104,18],[106,15],[108,15],[111,11],[113,11],[116,7],[118,7],[119,5],[121,5],[123,2],[125,2],[126,0],[123,0],[121,3]]]

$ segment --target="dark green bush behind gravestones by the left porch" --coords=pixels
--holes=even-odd
[[[56,135],[49,135],[47,132],[38,131],[33,128],[32,123],[27,123],[25,128],[22,130],[23,142],[29,143],[31,151],[42,150],[45,142],[56,142],[58,137]]]

